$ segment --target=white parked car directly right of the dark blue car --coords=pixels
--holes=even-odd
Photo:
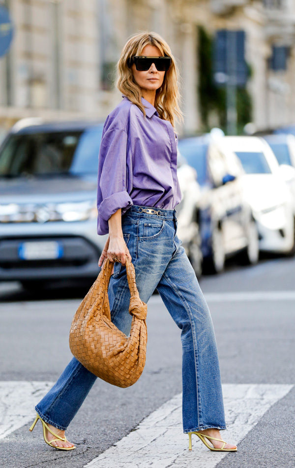
[[[243,192],[257,223],[260,250],[294,254],[292,195],[268,143],[257,136],[225,136],[220,144],[236,153],[244,168]]]

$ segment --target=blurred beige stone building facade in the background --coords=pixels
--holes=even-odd
[[[103,121],[120,101],[115,67],[126,39],[156,31],[180,69],[185,122],[179,134],[202,130],[198,87],[202,26],[245,31],[252,73],[247,90],[257,130],[295,122],[293,0],[2,0],[14,24],[0,58],[0,131],[23,117]],[[212,125],[218,125],[214,113]]]

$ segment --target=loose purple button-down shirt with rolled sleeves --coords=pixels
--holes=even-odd
[[[126,96],[108,115],[98,157],[97,234],[108,220],[135,205],[174,209],[181,201],[177,179],[177,134],[146,99],[147,117]]]

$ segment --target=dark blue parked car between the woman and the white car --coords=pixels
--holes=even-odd
[[[242,263],[255,264],[259,240],[250,206],[244,201],[243,168],[232,152],[220,149],[209,135],[184,138],[179,150],[197,171],[201,187],[197,221],[202,238],[203,271],[219,272],[225,259],[239,254]]]

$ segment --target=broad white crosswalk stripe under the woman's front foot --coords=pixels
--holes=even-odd
[[[293,388],[293,385],[224,384],[223,397],[228,442],[237,444],[258,423],[265,412]],[[182,432],[181,394],[164,403],[118,443],[85,465],[86,468],[196,468],[215,467],[229,452],[215,453],[192,435]],[[230,456],[234,457],[235,453]]]

